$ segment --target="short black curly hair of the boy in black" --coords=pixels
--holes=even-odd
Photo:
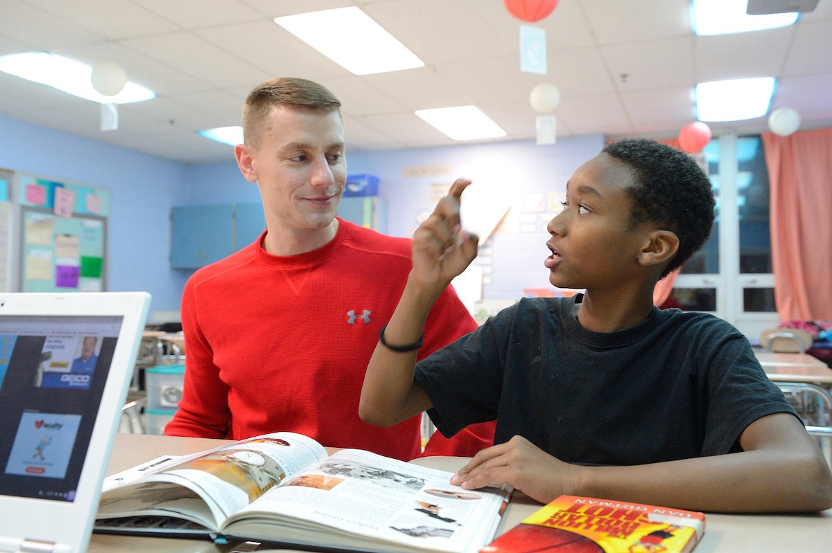
[[[607,144],[602,154],[629,165],[635,176],[627,188],[632,198],[631,228],[651,221],[679,237],[676,256],[661,273],[667,276],[711,236],[715,206],[711,180],[690,155],[656,140],[617,140]]]

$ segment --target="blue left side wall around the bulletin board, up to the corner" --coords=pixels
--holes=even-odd
[[[107,289],[149,291],[151,311],[179,310],[183,276],[168,261],[169,212],[188,201],[186,164],[4,116],[0,144],[0,167],[109,188]]]

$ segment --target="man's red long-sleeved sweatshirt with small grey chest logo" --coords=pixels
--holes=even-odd
[[[410,271],[409,239],[344,220],[331,242],[297,256],[272,256],[262,239],[187,281],[185,389],[165,433],[239,440],[290,431],[329,447],[417,457],[418,417],[382,428],[358,415],[369,357]],[[474,328],[448,287],[419,359]],[[426,454],[473,455],[491,445],[493,424],[458,436]]]

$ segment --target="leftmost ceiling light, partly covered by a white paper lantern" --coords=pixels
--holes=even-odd
[[[116,95],[99,94],[92,88],[92,81],[90,81],[92,67],[47,51],[30,51],[2,56],[0,57],[0,71],[52,86],[59,91],[100,104],[129,104],[156,98],[156,93],[133,82],[127,82],[124,90]]]

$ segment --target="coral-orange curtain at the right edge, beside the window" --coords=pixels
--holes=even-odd
[[[761,137],[780,321],[832,319],[832,129]]]

